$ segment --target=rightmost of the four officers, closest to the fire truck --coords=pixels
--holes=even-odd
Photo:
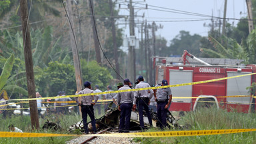
[[[167,80],[163,79],[161,86],[168,85]],[[157,101],[157,117],[159,119],[160,128],[166,126],[167,109],[171,104],[173,95],[169,87],[163,89],[156,89],[154,91],[155,101]]]

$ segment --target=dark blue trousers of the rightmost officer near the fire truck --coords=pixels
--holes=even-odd
[[[161,129],[163,129],[166,126],[166,117],[167,117],[167,109],[165,109],[166,104],[167,104],[167,101],[157,102],[157,117],[159,119]]]

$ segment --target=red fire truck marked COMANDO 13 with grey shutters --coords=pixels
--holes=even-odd
[[[190,58],[187,59],[187,57]],[[239,59],[198,59],[187,51],[184,51],[183,57],[154,57],[156,83],[167,79],[169,85],[175,85],[256,72],[256,65],[243,65],[242,61]],[[192,98],[211,95],[217,98],[219,107],[228,111],[236,109],[236,111],[247,113],[249,104],[252,102],[251,97],[221,96],[251,95],[246,88],[255,81],[256,76],[249,75],[211,83],[172,87],[173,97],[178,98],[173,99],[169,110],[192,111],[195,105],[195,99]]]

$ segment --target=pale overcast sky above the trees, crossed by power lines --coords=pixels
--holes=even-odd
[[[144,18],[136,17],[135,21],[138,19],[139,21],[147,19],[149,23],[152,23],[152,21],[155,21],[157,25],[160,25],[161,23],[163,29],[159,29],[157,35],[165,37],[167,41],[173,39],[181,30],[189,31],[191,35],[197,33],[206,36],[210,27],[204,27],[203,24],[205,23],[208,25],[211,23],[211,17],[207,17],[206,15],[211,16],[213,14],[215,17],[223,17],[224,1],[225,0],[146,0],[145,2],[135,4],[137,1],[133,0],[133,6],[135,6],[137,15],[143,15],[143,13],[145,13]],[[118,1],[118,3],[122,2]],[[145,3],[148,4],[149,9],[136,9],[145,7]],[[126,8],[125,5],[121,5],[121,8],[122,7]],[[171,9],[179,11],[175,11],[178,13],[173,13],[171,12],[173,11]],[[191,15],[180,14],[184,13],[183,11],[191,12]],[[195,13],[205,16],[195,16],[197,15]],[[129,15],[129,11],[127,11],[127,9],[121,9],[119,15]],[[245,0],[227,0],[227,18],[240,19],[241,17],[246,17],[246,15],[247,6]],[[204,20],[201,21],[202,19]],[[236,25],[238,21],[229,20],[228,22]],[[125,27],[125,25],[120,25],[120,27]],[[125,28],[125,35],[129,36],[129,25]],[[138,33],[137,29],[135,29],[135,35],[137,37],[140,37],[141,35]],[[168,43],[168,45],[169,44],[170,43]]]

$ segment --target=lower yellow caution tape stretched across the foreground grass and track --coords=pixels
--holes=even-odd
[[[194,131],[154,131],[141,133],[110,133],[110,134],[94,134],[85,136],[97,137],[187,137],[187,136],[201,136],[201,135],[221,135],[229,133],[244,133],[256,131],[256,129],[213,129],[213,130],[194,130]],[[13,133],[0,132],[0,137],[71,137],[81,135],[65,135],[54,133]]]

